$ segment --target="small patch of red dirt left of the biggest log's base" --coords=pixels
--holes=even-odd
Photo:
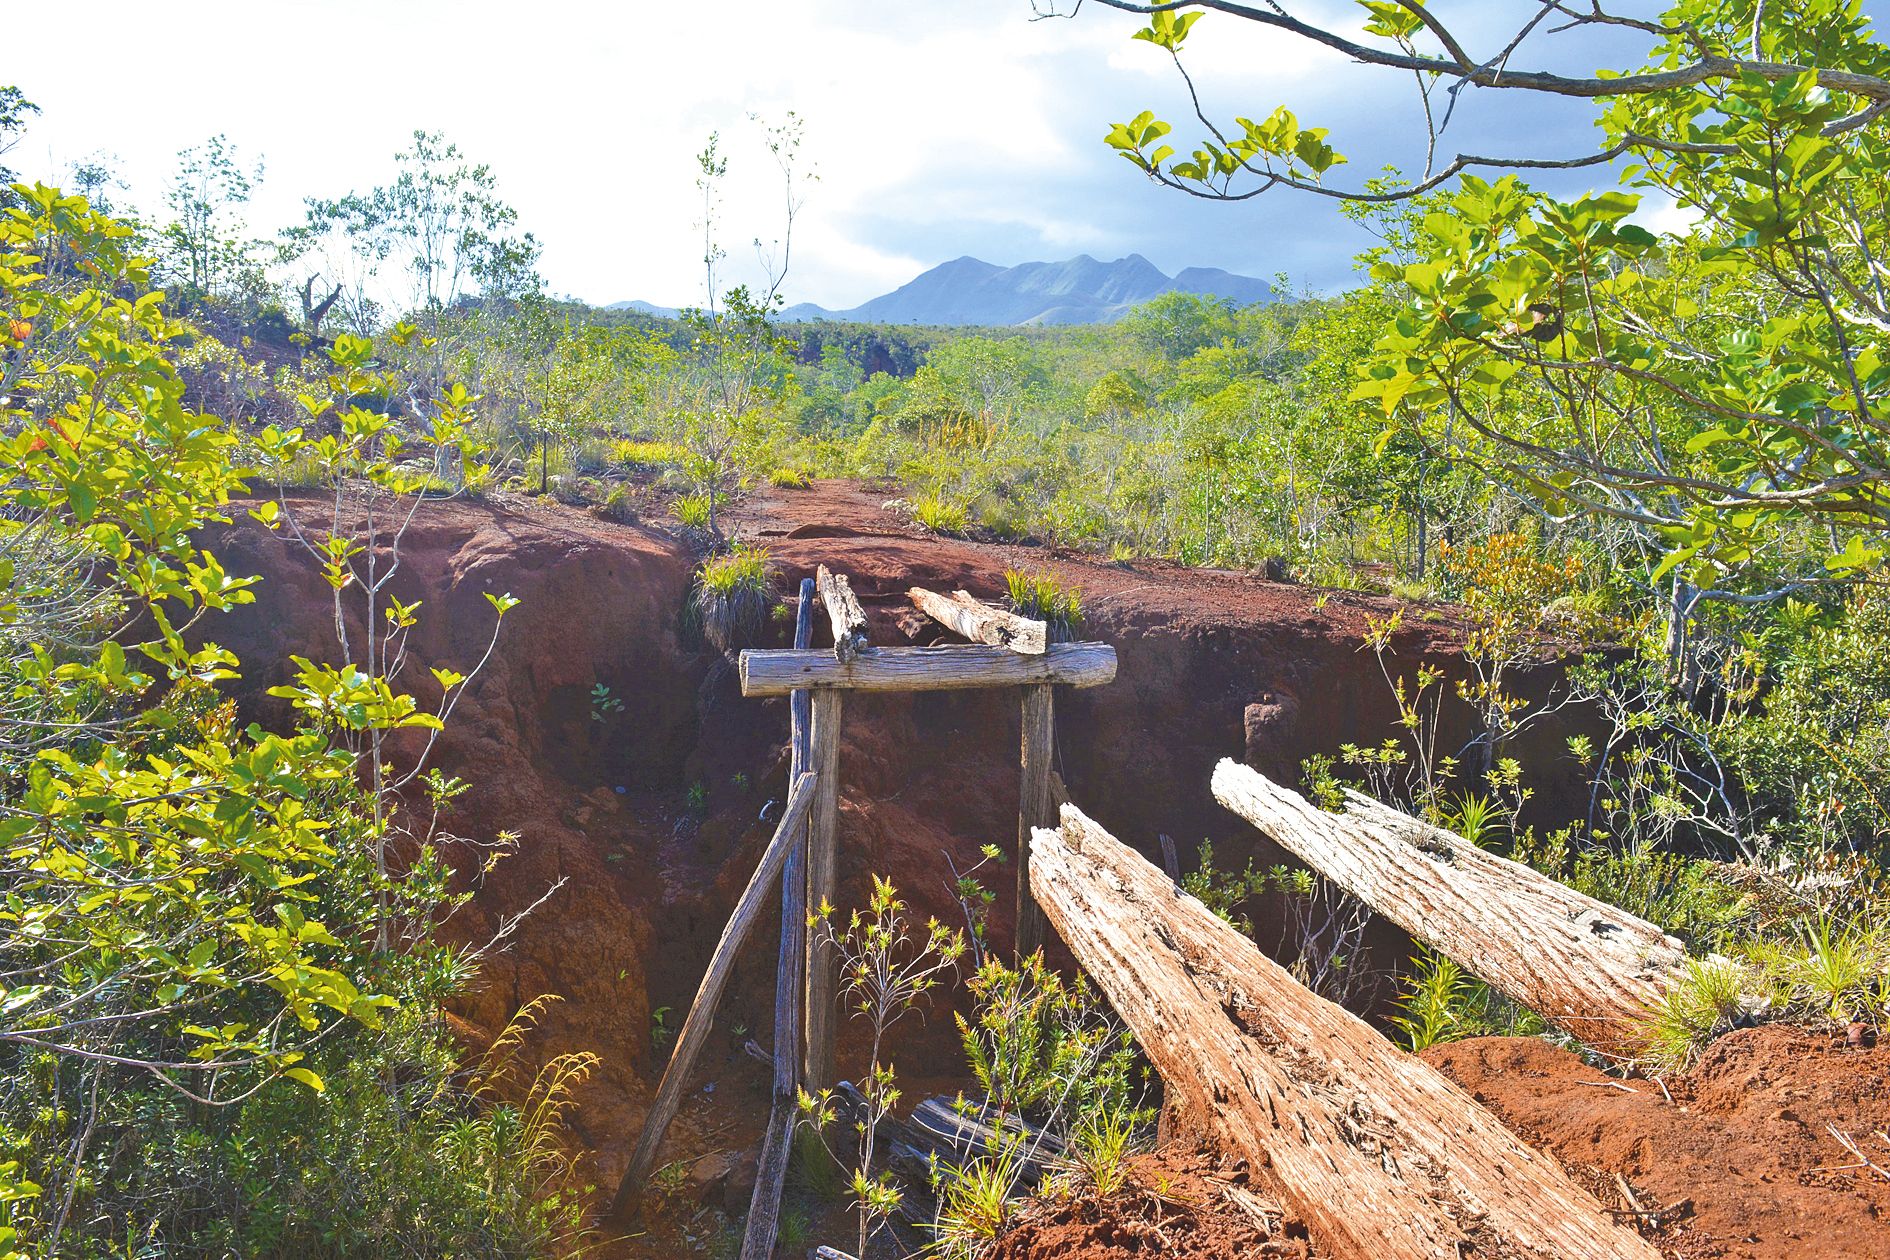
[[[1130,1160],[1128,1186],[1106,1200],[1034,1203],[987,1260],[1259,1260],[1315,1254],[1304,1226],[1246,1192],[1244,1171],[1227,1171],[1206,1152],[1157,1152]]]

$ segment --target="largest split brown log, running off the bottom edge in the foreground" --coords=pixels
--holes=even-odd
[[[1168,1098],[1266,1169],[1319,1247],[1658,1258],[1469,1094],[1306,990],[1074,805],[1030,848],[1038,903]]]

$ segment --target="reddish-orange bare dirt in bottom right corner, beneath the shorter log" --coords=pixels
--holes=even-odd
[[[1603,1203],[1661,1213],[1648,1235],[1676,1260],[1890,1256],[1890,1047],[1750,1028],[1665,1079],[1614,1082],[1525,1037],[1484,1037],[1425,1060],[1554,1152]]]

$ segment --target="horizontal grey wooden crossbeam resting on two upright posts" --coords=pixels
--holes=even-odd
[[[1106,642],[1058,642],[1043,656],[987,644],[864,648],[845,663],[816,648],[748,648],[739,665],[743,695],[788,695],[798,688],[960,691],[1034,682],[1098,688],[1115,678],[1115,648]]]

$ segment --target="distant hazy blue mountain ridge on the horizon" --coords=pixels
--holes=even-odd
[[[971,255],[939,263],[892,293],[850,310],[798,302],[786,321],[845,319],[886,325],[1028,327],[1113,323],[1164,293],[1198,293],[1242,306],[1274,298],[1272,283],[1217,266],[1187,266],[1168,276],[1140,253],[1102,263],[1087,253],[1060,263],[998,266]],[[650,302],[612,302],[607,310],[675,315]]]

